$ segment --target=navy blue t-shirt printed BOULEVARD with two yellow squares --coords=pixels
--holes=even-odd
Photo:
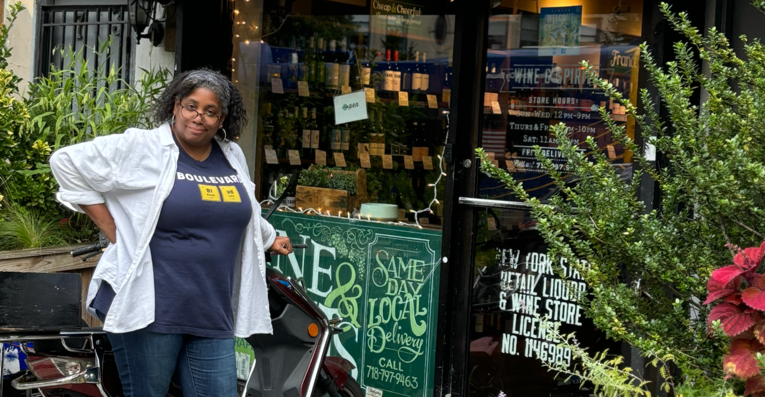
[[[233,337],[234,270],[252,205],[219,145],[213,143],[205,161],[180,151],[173,190],[149,243],[155,322],[146,329]],[[106,313],[113,297],[103,283],[93,308]]]

